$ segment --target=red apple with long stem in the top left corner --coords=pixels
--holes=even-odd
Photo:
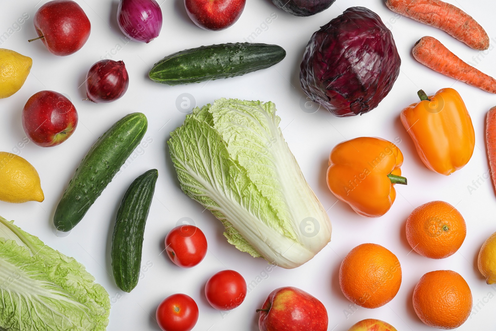
[[[47,49],[58,56],[75,53],[88,40],[91,24],[83,9],[72,0],[45,3],[34,15],[34,26]]]

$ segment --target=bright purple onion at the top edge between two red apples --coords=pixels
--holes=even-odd
[[[162,10],[155,0],[121,0],[117,22],[130,39],[149,43],[162,29]]]

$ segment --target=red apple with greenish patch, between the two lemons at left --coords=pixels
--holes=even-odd
[[[26,102],[22,110],[22,126],[29,139],[38,146],[56,146],[76,130],[76,108],[60,93],[40,91]]]

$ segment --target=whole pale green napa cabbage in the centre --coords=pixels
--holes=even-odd
[[[219,99],[171,132],[183,191],[240,251],[294,268],[331,238],[331,223],[291,153],[272,102]]]

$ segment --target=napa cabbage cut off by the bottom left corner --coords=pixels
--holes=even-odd
[[[73,258],[0,217],[0,330],[103,331],[107,291]]]

